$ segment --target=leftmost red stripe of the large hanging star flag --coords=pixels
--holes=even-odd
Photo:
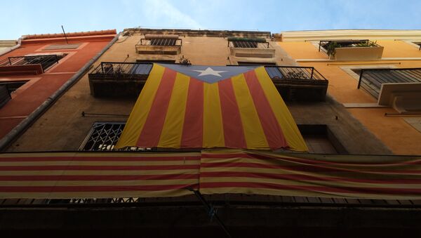
[[[138,147],[156,147],[158,145],[176,76],[177,72],[168,68],[163,72],[154,102],[139,135],[138,143],[136,143]]]

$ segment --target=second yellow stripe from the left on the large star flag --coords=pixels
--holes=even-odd
[[[177,73],[158,147],[180,148],[190,77]]]

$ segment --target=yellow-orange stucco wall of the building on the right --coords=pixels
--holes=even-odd
[[[421,67],[421,60],[396,58],[421,58],[421,51],[404,41],[377,41],[384,46],[382,58],[391,60],[352,61],[352,62],[298,62],[302,66],[312,66],[329,80],[328,93],[340,103],[376,103],[373,96],[357,89],[358,80],[341,67],[367,65],[394,65],[395,67]],[[328,59],[324,53],[310,42],[279,42],[279,45],[295,59]],[[351,114],[382,140],[395,154],[421,154],[421,133],[410,126],[403,117],[385,117],[392,108],[349,108]]]

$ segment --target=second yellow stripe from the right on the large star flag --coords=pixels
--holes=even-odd
[[[263,131],[258,112],[256,111],[253,98],[248,90],[246,78],[243,74],[232,77],[232,86],[236,102],[239,106],[241,121],[243,122],[244,136],[248,149],[269,148],[266,135]]]

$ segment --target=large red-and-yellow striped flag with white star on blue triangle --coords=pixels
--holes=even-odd
[[[116,148],[307,151],[265,67],[154,64]]]

